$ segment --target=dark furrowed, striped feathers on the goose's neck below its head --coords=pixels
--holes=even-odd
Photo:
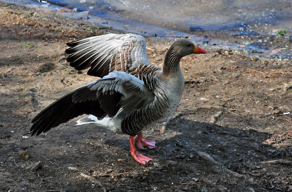
[[[169,75],[180,69],[180,59],[182,56],[171,46],[167,51],[164,59],[163,74]]]

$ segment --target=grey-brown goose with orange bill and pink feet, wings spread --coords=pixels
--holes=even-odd
[[[164,67],[151,65],[146,41],[137,34],[105,34],[67,43],[65,52],[76,70],[90,68],[88,75],[101,77],[61,97],[32,120],[31,135],[39,135],[86,114],[77,125],[94,124],[114,133],[129,135],[131,155],[139,163],[152,161],[135,149],[155,148],[142,132],[170,115],[180,103],[185,79],[180,59],[206,50],[189,39],[169,47]],[[136,136],[137,135],[137,136]],[[135,137],[136,136],[136,137]],[[146,148],[145,148],[146,147]]]

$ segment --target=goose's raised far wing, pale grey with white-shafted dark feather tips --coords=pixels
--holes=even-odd
[[[76,70],[88,75],[104,77],[112,71],[131,73],[139,65],[150,65],[146,55],[146,41],[136,34],[105,34],[67,43],[67,61]]]

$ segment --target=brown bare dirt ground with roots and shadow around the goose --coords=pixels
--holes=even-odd
[[[30,137],[42,109],[97,79],[68,65],[65,43],[112,32],[121,33],[0,1],[0,191],[292,191],[292,118],[283,114],[292,63],[239,50],[181,60],[177,117],[144,133],[157,149],[138,149],[148,165],[131,156],[127,135],[75,126],[78,118]],[[162,67],[173,39],[146,40]]]

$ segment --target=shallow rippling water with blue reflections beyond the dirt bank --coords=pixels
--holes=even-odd
[[[291,0],[50,0],[50,5],[43,2],[27,1],[51,11],[60,12],[62,7],[74,9],[77,11],[64,14],[89,18],[127,32],[168,38],[187,36],[209,48],[237,48],[260,53],[262,57],[292,58],[292,39],[287,42],[277,35],[282,29],[292,34]]]

